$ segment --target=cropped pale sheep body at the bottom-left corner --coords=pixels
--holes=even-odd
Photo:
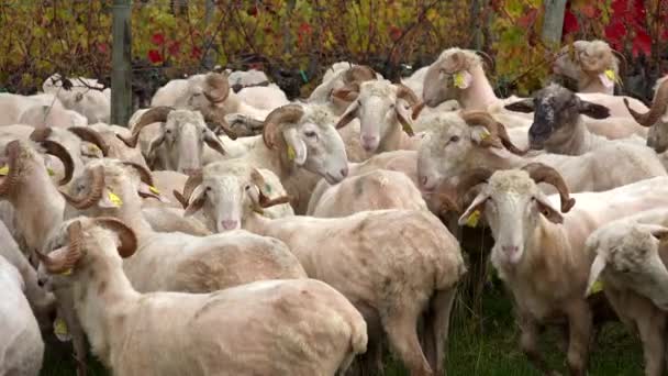
[[[0,255],[0,374],[37,376],[44,342],[16,268]]]

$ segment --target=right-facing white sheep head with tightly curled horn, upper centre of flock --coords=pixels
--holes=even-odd
[[[263,140],[280,153],[283,164],[296,164],[336,184],[348,174],[345,145],[334,118],[316,104],[286,104],[265,119]]]

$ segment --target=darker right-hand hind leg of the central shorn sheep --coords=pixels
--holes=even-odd
[[[430,316],[425,330],[426,358],[436,375],[444,375],[445,353],[450,324],[450,310],[455,302],[457,288],[436,291],[430,302]]]

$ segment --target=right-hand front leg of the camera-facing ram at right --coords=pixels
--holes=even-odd
[[[571,375],[586,375],[589,342],[593,327],[592,312],[587,301],[578,301],[566,310],[568,316],[568,369]]]

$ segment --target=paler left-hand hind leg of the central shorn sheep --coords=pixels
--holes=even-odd
[[[432,376],[432,368],[422,353],[417,339],[416,311],[415,308],[411,311],[408,307],[397,309],[393,314],[383,318],[382,325],[390,347],[401,358],[411,376]]]

